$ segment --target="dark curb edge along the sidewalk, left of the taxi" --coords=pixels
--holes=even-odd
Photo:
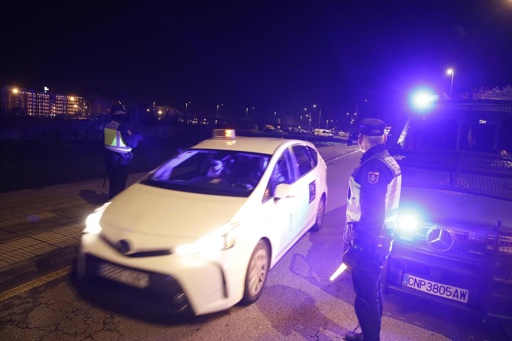
[[[74,243],[1,268],[0,292],[72,265],[78,252],[79,243]]]

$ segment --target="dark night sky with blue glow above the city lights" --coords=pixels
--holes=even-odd
[[[449,93],[449,68],[452,97],[482,71],[512,84],[512,0],[19,4],[0,14],[2,85],[239,116],[367,99],[386,119],[417,86]]]

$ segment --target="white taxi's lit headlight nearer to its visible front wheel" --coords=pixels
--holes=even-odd
[[[226,223],[194,243],[176,247],[174,251],[180,255],[192,255],[227,250],[234,246],[239,225],[240,223]]]

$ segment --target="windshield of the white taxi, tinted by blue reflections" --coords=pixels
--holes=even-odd
[[[141,183],[192,193],[248,197],[271,155],[190,149],[170,159]]]

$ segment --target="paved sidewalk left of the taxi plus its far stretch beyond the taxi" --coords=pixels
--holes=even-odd
[[[319,147],[326,162],[357,146]],[[145,173],[132,174],[128,185]],[[103,179],[0,193],[0,291],[67,266],[76,256],[86,218],[108,199]],[[23,282],[22,282],[23,283]]]

